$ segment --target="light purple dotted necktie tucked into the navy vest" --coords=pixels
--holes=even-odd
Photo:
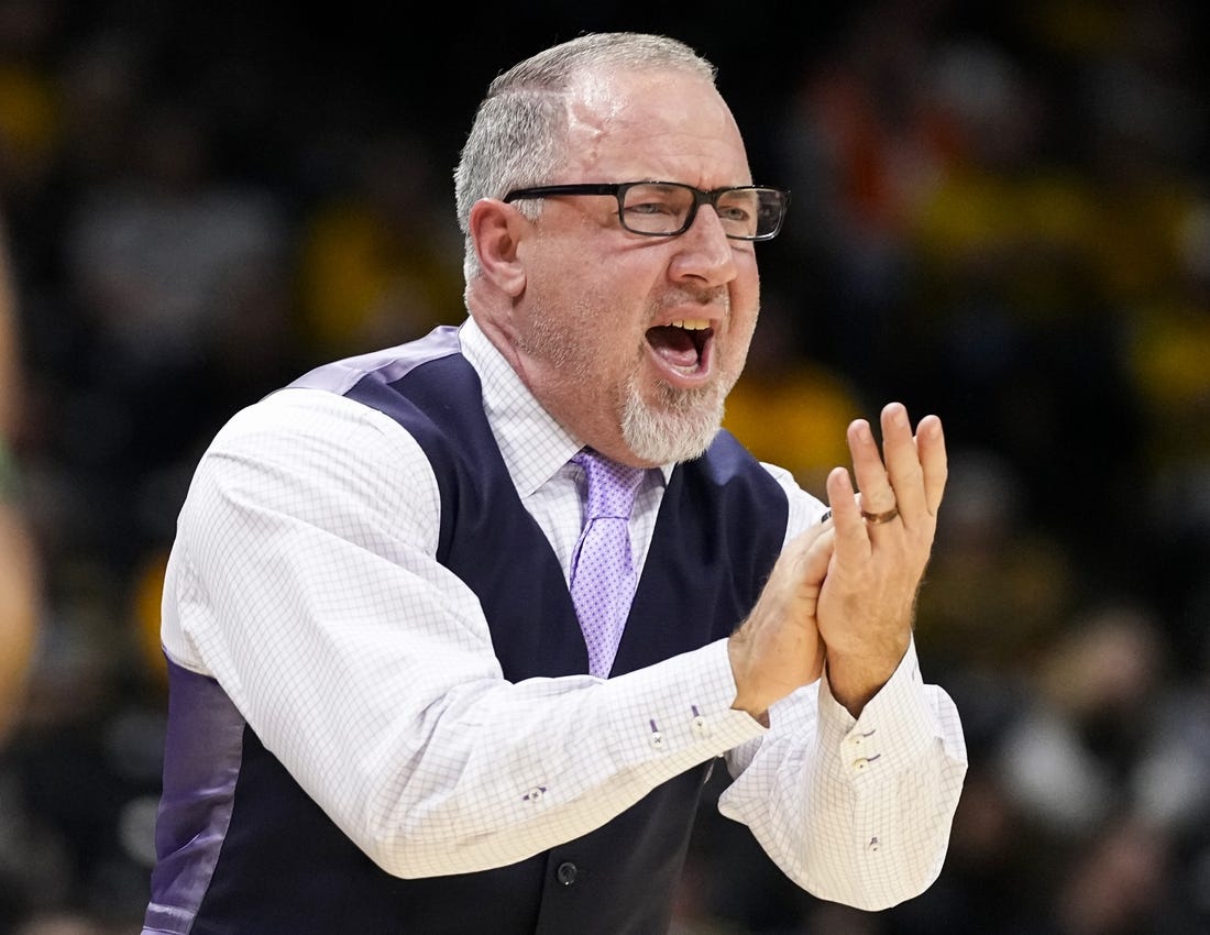
[[[592,449],[571,460],[588,474],[588,516],[571,556],[571,600],[588,646],[588,671],[605,679],[634,596],[627,524],[644,471]]]

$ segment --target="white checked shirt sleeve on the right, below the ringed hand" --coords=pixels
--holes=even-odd
[[[816,518],[809,504],[791,508],[788,538],[801,531],[795,515]],[[967,751],[953,702],[922,680],[915,642],[859,718],[825,676],[773,705],[768,732],[727,762],[736,779],[720,812],[817,896],[881,910],[940,873]]]

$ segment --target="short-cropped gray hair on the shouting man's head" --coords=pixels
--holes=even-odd
[[[465,238],[462,270],[469,283],[479,261],[469,233],[472,206],[513,189],[549,184],[566,165],[566,96],[574,80],[595,70],[673,70],[714,83],[716,69],[684,42],[643,33],[592,33],[552,46],[508,69],[488,86],[457,169],[454,196]],[[518,203],[536,218],[541,202]]]

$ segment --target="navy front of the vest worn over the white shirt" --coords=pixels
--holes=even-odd
[[[469,363],[455,351],[402,376],[373,370],[339,391],[397,420],[424,448],[440,487],[437,558],[479,596],[505,677],[586,673],[563,572],[517,496]],[[785,524],[783,491],[726,432],[705,456],[678,466],[613,674],[730,635],[755,602]],[[182,697],[220,691],[177,666],[173,677],[207,683],[180,685]],[[399,879],[370,861],[244,727],[229,827],[190,931],[656,935],[669,925],[708,770],[690,769],[597,831],[529,860]]]

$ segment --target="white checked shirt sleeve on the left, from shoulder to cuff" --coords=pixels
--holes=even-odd
[[[396,422],[286,391],[203,456],[166,582],[168,654],[384,870],[522,860],[762,732],[730,709],[726,641],[609,681],[506,682],[474,594],[433,558],[438,514]]]

